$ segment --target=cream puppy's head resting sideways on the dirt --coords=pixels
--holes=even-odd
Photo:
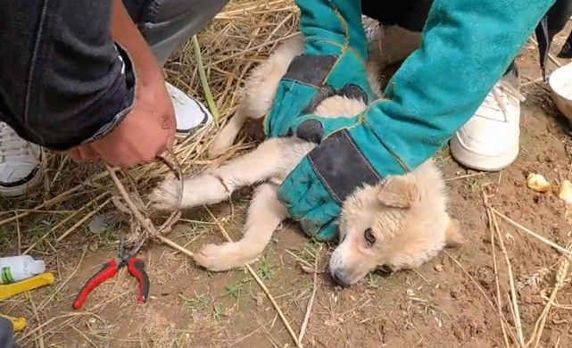
[[[459,244],[458,222],[446,208],[444,181],[432,162],[356,189],[342,208],[332,277],[350,286],[372,270],[418,267],[445,245]]]

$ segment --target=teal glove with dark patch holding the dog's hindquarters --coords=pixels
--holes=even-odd
[[[294,58],[278,85],[274,107],[264,120],[268,137],[285,137],[292,121],[346,86],[375,99],[366,74],[368,39],[361,0],[295,0],[305,52]]]

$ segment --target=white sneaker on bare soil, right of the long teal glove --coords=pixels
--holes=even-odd
[[[508,167],[518,156],[520,103],[524,100],[508,82],[494,85],[475,115],[452,137],[452,157],[474,170]]]

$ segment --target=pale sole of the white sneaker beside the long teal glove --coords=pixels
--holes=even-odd
[[[510,166],[518,157],[520,146],[518,143],[510,147],[506,153],[498,156],[484,156],[482,154],[468,151],[460,145],[454,137],[449,142],[452,158],[472,170],[480,171],[500,171]]]

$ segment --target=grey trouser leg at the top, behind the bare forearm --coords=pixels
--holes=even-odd
[[[123,0],[162,64],[211,22],[229,0]]]

